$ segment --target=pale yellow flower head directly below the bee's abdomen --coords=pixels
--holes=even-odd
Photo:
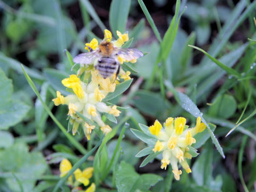
[[[68,105],[70,123],[73,124],[73,135],[76,134],[78,126],[82,125],[84,134],[88,140],[90,140],[90,134],[95,126],[83,121],[76,112],[83,114],[85,117],[97,123],[103,133],[110,132],[111,127],[102,121],[100,113],[113,114],[115,117],[121,113],[117,109],[117,106],[107,106],[106,103],[102,102],[102,99],[109,92],[115,91],[116,84],[112,83],[109,78],[102,78],[97,71],[91,71],[91,75],[92,81],[88,84],[82,82],[76,75],[70,75],[69,78],[63,79],[62,84],[72,89],[75,94],[69,94],[67,97],[63,97],[57,91],[57,98],[53,99],[56,106],[60,104]]]

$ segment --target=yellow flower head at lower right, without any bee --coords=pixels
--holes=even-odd
[[[206,125],[201,123],[201,117],[197,117],[196,126],[193,128],[188,128],[184,117],[167,118],[164,129],[162,129],[161,123],[156,120],[154,125],[149,127],[149,131],[158,139],[153,151],[154,153],[162,152],[161,169],[166,170],[167,165],[171,164],[174,178],[179,180],[182,173],[178,169],[179,162],[183,169],[190,173],[191,170],[186,161],[186,158],[191,159],[192,157],[189,153],[189,146],[196,142],[193,138],[194,135],[204,131],[205,127]]]

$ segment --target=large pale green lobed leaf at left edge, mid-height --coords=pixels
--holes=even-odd
[[[0,68],[0,130],[8,129],[19,123],[26,114],[30,107],[25,103],[12,99],[13,85],[11,79],[8,79],[4,71]]]

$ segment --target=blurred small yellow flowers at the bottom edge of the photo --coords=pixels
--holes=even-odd
[[[60,162],[60,177],[64,177],[70,170],[72,169],[71,163],[68,161],[68,159],[62,159]],[[84,186],[88,186],[90,181],[89,179],[92,177],[93,174],[93,167],[87,167],[83,171],[80,169],[77,169],[74,172],[75,180],[77,183],[73,182],[73,176],[70,175],[68,178],[68,183],[71,186],[77,186],[79,183],[83,183]],[[94,192],[95,191],[95,184],[92,183],[89,188],[87,188],[84,192]]]

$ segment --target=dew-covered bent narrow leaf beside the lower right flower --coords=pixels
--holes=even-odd
[[[210,137],[212,139],[212,142],[214,143],[214,145],[216,146],[217,150],[219,151],[220,155],[225,158],[225,155],[223,153],[223,149],[220,146],[219,141],[217,140],[217,138],[215,137],[214,133],[212,132],[209,124],[205,121],[205,119],[203,118],[203,113],[201,113],[201,111],[197,108],[197,106],[195,105],[195,103],[188,97],[188,95],[181,93],[179,91],[176,91],[175,89],[173,89],[172,85],[170,84],[170,82],[165,82],[165,85],[172,91],[172,93],[174,94],[175,99],[179,102],[180,106],[185,109],[186,111],[188,111],[188,113],[190,113],[191,115],[193,115],[194,117],[201,117],[202,122],[206,125],[207,130],[210,134]]]

